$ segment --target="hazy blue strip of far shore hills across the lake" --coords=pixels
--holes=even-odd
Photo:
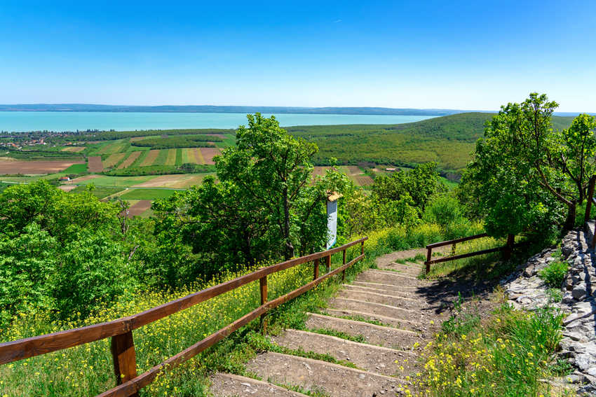
[[[299,107],[299,106],[118,106],[94,104],[14,104],[0,105],[0,111],[110,111],[167,113],[302,113],[369,114],[386,116],[445,116],[462,111],[453,109],[391,109],[376,107]]]

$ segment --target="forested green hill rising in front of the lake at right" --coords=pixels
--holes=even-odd
[[[315,162],[356,165],[374,162],[412,167],[437,162],[443,172],[461,172],[470,160],[475,141],[493,113],[459,113],[398,125],[312,125],[288,127],[297,137],[319,147]],[[553,117],[555,128],[567,128],[572,117]]]

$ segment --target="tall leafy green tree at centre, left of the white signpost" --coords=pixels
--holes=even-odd
[[[291,258],[323,248],[327,239],[327,191],[346,177],[330,172],[313,182],[317,148],[294,139],[274,117],[248,116],[236,146],[215,158],[217,180],[154,203],[156,233],[187,244],[198,272]]]

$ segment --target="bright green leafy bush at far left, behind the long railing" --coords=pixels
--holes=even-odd
[[[0,321],[19,313],[89,314],[134,284],[118,208],[46,181],[0,194]]]

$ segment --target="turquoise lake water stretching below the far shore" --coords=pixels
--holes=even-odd
[[[271,116],[264,114],[264,116]],[[276,114],[280,125],[399,124],[433,116],[349,114]],[[0,111],[0,131],[165,130],[168,128],[236,128],[245,113],[117,113]]]

